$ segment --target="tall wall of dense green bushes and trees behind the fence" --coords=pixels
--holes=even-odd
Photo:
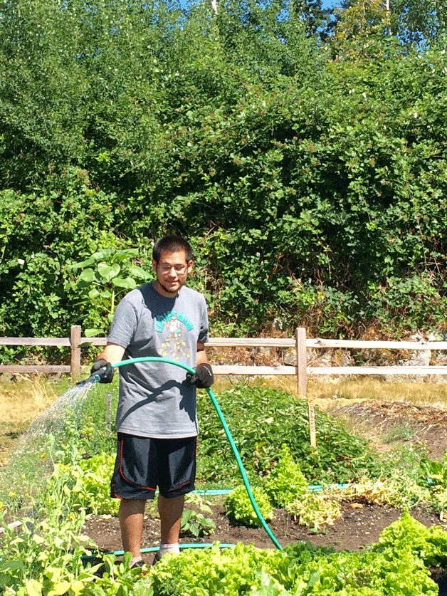
[[[328,35],[319,0],[226,0],[217,16],[208,3],[6,3],[2,333],[102,333],[144,279],[130,264],[147,271],[172,231],[194,245],[213,330],[442,325],[443,12],[394,0],[390,19],[355,1]]]

